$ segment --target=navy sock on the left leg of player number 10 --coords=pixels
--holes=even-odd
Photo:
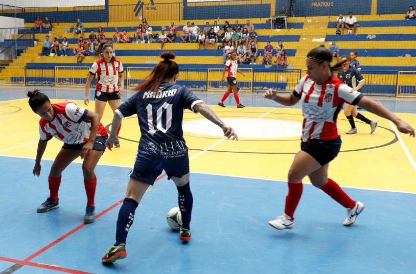
[[[125,243],[127,239],[127,233],[133,224],[134,214],[139,203],[133,199],[125,198],[123,205],[118,211],[117,230],[116,230],[116,244],[118,246],[121,243]]]

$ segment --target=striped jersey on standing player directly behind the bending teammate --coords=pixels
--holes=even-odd
[[[123,64],[118,59],[111,63],[104,61],[104,58],[94,62],[90,73],[92,75],[98,74],[95,90],[102,92],[118,91],[118,74],[122,73],[123,70]]]

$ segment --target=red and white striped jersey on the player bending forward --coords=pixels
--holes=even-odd
[[[74,103],[65,102],[52,104],[55,117],[52,121],[41,118],[39,121],[39,134],[41,140],[48,141],[52,137],[67,144],[85,143],[90,138],[91,122],[85,121],[88,110]],[[97,136],[106,136],[107,130],[100,123]]]

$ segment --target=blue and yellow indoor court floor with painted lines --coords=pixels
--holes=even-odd
[[[36,213],[49,194],[47,176],[62,142],[48,142],[41,175],[33,176],[40,117],[25,95],[33,89],[0,87],[0,274],[416,273],[416,138],[364,110],[378,121],[375,132],[370,135],[370,126],[356,120],[358,133],[346,135],[349,123],[341,112],[343,144],[329,177],[365,210],[353,226],[344,227],[345,209],[305,178],[295,227],[280,231],[267,222],[283,212],[287,172],[300,149],[301,109],[255,92],[239,94],[244,109],[236,108],[232,96],[221,108],[222,93],[195,92],[235,129],[238,142],[225,139],[202,115],[185,111],[192,239],[182,243],[166,224],[177,191],[162,174],[136,210],[127,258],[103,265],[101,257],[115,242],[118,209],[137,152],[137,117],[123,120],[121,147],[106,150],[95,169],[94,223],[83,223],[80,159],[62,175],[61,207]],[[40,89],[52,103],[68,100],[86,107],[82,88]],[[132,94],[126,91],[122,100]],[[416,127],[415,99],[371,98]],[[93,110],[93,102],[86,108]],[[101,122],[111,127],[112,116],[107,105]]]

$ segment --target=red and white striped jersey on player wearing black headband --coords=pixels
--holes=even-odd
[[[305,75],[293,94],[302,102],[302,141],[311,139],[332,140],[339,136],[337,116],[344,103],[356,105],[363,94],[354,91],[343,81],[331,75],[318,85]]]

